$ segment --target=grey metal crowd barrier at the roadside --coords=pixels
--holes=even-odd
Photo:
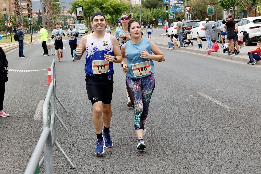
[[[66,153],[63,151],[61,146],[56,140],[56,118],[63,125],[65,129],[67,127],[62,122],[61,118],[55,111],[55,98],[58,100],[63,109],[67,112],[67,109],[64,107],[60,99],[56,96],[56,76],[55,76],[55,59],[52,61],[51,65],[51,83],[48,88],[44,104],[43,104],[43,128],[40,138],[34,148],[33,154],[29,163],[26,167],[25,174],[34,174],[39,173],[39,169],[44,163],[44,173],[52,174],[54,172],[54,163],[53,163],[53,154],[52,148],[55,145],[59,152],[63,155],[64,159],[70,165],[72,169],[74,169],[74,165],[72,161],[68,158]],[[48,112],[49,110],[49,112]],[[68,129],[67,129],[68,130]],[[41,153],[44,150],[43,158],[38,161],[41,157]]]

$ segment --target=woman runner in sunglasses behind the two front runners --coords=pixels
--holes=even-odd
[[[127,15],[127,14],[121,15],[122,28],[119,28],[119,29],[116,30],[116,38],[119,41],[120,48],[121,48],[121,46],[124,43],[126,43],[128,40],[131,39],[131,36],[130,36],[130,34],[128,32],[128,23],[129,23],[129,20],[131,18],[132,18],[132,13],[129,14],[129,15]],[[126,74],[125,73],[124,73],[124,79],[126,79]],[[128,98],[127,106],[128,107],[133,107],[132,103],[131,103],[131,99],[129,98],[129,94],[128,94],[126,86],[125,86],[125,91],[126,91],[127,98]]]

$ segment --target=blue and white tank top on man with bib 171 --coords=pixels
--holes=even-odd
[[[105,33],[104,38],[100,40],[94,39],[92,37],[92,33],[88,34],[85,53],[86,75],[99,77],[101,74],[106,74],[113,76],[113,62],[100,61],[105,60],[103,54],[114,56],[110,33]],[[104,62],[108,64],[105,65]],[[104,69],[106,70],[106,72],[104,71]]]

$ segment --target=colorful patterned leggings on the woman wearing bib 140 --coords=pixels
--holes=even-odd
[[[126,77],[126,87],[134,110],[134,128],[142,129],[143,120],[147,118],[152,92],[155,88],[154,75],[132,79]]]

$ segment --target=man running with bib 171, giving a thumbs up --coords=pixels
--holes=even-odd
[[[121,63],[122,56],[115,36],[105,32],[107,21],[101,12],[92,15],[94,32],[82,37],[73,55],[75,60],[86,52],[86,89],[92,102],[92,122],[96,131],[96,155],[104,153],[104,147],[112,147],[110,135],[111,99],[113,88],[113,62]],[[103,128],[104,123],[104,129]]]

